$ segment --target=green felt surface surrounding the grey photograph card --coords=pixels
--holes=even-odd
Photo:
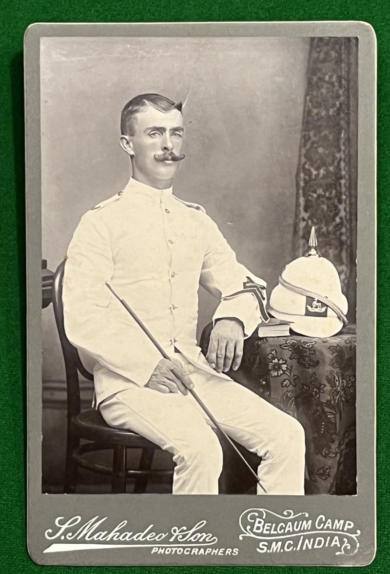
[[[386,7],[387,6],[387,7]],[[24,208],[24,102],[23,36],[32,22],[169,22],[169,21],[284,21],[361,20],[369,22],[378,39],[378,370],[377,370],[377,515],[378,550],[369,572],[387,572],[389,542],[389,410],[387,387],[390,207],[390,9],[385,0],[317,0],[276,2],[269,0],[14,0],[0,7],[0,141],[1,207],[0,233],[0,420],[1,420],[1,528],[3,557],[0,571],[21,572],[114,572],[118,567],[42,567],[26,550],[25,487],[25,208]],[[332,568],[261,567],[262,573],[328,572]],[[218,572],[241,573],[259,567],[219,567]],[[211,573],[212,567],[127,568],[169,574],[196,571]]]

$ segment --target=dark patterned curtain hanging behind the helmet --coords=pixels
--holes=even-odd
[[[311,226],[318,249],[336,266],[356,307],[357,43],[312,38],[299,161],[293,249],[307,252]]]

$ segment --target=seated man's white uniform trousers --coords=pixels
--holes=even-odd
[[[267,493],[305,494],[302,425],[239,383],[197,369],[182,354],[175,358],[227,435],[262,457],[258,474]],[[190,394],[159,393],[131,383],[99,408],[108,425],[132,430],[172,453],[173,494],[218,494],[222,449]],[[259,485],[257,492],[264,494]]]

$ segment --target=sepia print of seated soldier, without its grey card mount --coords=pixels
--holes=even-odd
[[[42,492],[356,494],[356,39],[40,66]]]

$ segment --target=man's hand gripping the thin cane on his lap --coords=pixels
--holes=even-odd
[[[145,386],[160,393],[180,392],[185,395],[188,394],[188,389],[194,388],[181,363],[174,359],[161,359]]]

